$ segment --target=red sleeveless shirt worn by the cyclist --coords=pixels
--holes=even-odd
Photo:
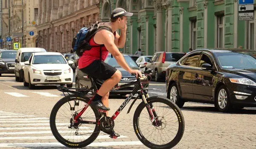
[[[113,33],[114,37],[116,37],[116,32]],[[89,40],[89,44],[91,46],[100,46],[99,44],[95,43],[94,36]],[[89,66],[93,63],[94,60],[99,60],[99,49],[100,47],[92,47],[90,50],[84,51],[82,56],[79,58],[78,68],[82,69],[84,67]],[[101,60],[104,61],[108,57],[108,50],[105,46],[102,46],[102,58]]]

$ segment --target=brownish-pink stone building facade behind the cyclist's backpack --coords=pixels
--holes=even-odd
[[[99,0],[39,0],[37,46],[48,52],[70,52],[79,29],[96,20]]]

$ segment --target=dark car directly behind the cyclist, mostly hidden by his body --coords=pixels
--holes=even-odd
[[[123,54],[125,57],[126,63],[128,63],[128,66],[130,66],[132,69],[140,69],[137,63],[134,62],[134,60],[127,54]],[[136,80],[136,77],[132,76],[129,72],[122,69],[122,67],[119,66],[119,64],[116,62],[116,59],[111,57],[111,54],[108,55],[107,59],[105,60],[105,63],[115,67],[122,73],[122,79],[116,86],[130,83],[134,80]],[[104,80],[97,80],[96,84],[102,84]],[[145,86],[148,86],[148,84],[145,84]],[[90,79],[87,78],[87,74],[81,72],[79,68],[76,68],[76,88],[90,88],[91,82]],[[124,89],[119,89],[115,91],[111,91],[111,95],[122,95],[125,96],[127,94],[131,94],[131,91],[135,88],[135,86],[126,87]],[[140,93],[140,92],[138,92]]]

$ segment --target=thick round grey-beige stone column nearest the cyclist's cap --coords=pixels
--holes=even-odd
[[[163,6],[157,3],[157,52],[163,51]]]

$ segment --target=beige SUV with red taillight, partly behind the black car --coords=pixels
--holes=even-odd
[[[165,79],[167,67],[172,63],[176,63],[184,55],[185,53],[179,52],[157,52],[153,55],[145,69],[156,71],[152,74],[152,77],[159,82]]]

